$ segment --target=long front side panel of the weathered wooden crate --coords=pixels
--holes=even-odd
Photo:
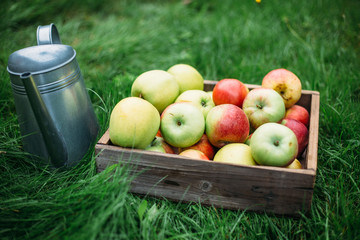
[[[121,157],[121,160],[119,158]],[[256,169],[198,160],[103,150],[98,169],[130,163],[137,177],[132,192],[175,201],[201,202],[228,209],[296,214],[308,210],[312,174]]]

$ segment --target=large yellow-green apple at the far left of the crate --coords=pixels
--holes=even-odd
[[[138,97],[122,99],[113,108],[109,136],[121,147],[144,149],[154,139],[160,126],[160,114],[148,101]]]

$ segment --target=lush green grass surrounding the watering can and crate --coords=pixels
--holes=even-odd
[[[0,9],[1,239],[359,239],[358,1],[6,0]],[[296,73],[321,94],[310,212],[293,219],[142,198],[129,193],[126,167],[96,174],[93,154],[66,171],[38,164],[22,151],[6,66],[50,22],[77,51],[101,134],[147,70],[187,63],[206,79],[251,84],[275,68]]]

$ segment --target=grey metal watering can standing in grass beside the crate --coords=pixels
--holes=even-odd
[[[38,46],[9,57],[24,150],[54,167],[76,165],[99,132],[75,50],[61,44],[54,24],[39,26]]]

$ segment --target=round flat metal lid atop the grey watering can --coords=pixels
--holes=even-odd
[[[24,72],[41,74],[66,65],[75,56],[75,50],[63,44],[27,47],[10,55],[7,70],[14,75],[21,75]]]

